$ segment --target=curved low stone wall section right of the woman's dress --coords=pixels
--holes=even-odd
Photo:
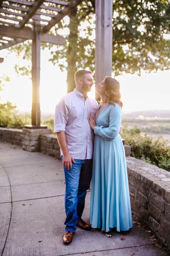
[[[170,251],[170,172],[127,157],[132,212]]]

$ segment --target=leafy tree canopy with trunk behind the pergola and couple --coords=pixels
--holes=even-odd
[[[67,70],[68,91],[74,86],[77,68],[94,71],[95,51],[95,0],[82,1],[70,14],[70,23],[64,19],[51,33],[60,33],[69,28],[66,44],[52,46],[42,44],[42,49],[51,49],[53,64]],[[84,25],[84,26],[83,26]],[[170,40],[165,35],[170,31],[169,0],[113,0],[113,72],[137,73],[167,70],[170,68]],[[29,58],[30,42],[13,46],[24,58]],[[17,69],[17,68],[16,68]],[[18,68],[19,69],[19,68]],[[24,71],[23,69],[21,70]],[[19,70],[18,70],[19,72]],[[25,72],[23,72],[25,73]],[[27,73],[27,72],[26,72]]]

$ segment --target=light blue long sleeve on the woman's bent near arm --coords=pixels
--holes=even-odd
[[[94,133],[105,140],[113,140],[119,134],[121,127],[122,108],[119,104],[112,105],[109,112],[109,127],[95,126]]]

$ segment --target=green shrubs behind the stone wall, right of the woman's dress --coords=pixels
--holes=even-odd
[[[140,129],[123,129],[122,138],[131,146],[131,156],[152,163],[162,169],[170,171],[169,141],[161,137],[154,140],[147,134],[142,135]]]

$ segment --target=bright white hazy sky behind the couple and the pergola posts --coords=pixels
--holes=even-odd
[[[1,102],[9,100],[16,103],[20,111],[30,111],[32,104],[32,82],[28,77],[18,76],[14,70],[15,64],[23,66],[23,60],[15,57],[14,53],[7,55],[1,50],[0,57],[4,62],[0,64],[0,77],[9,75],[11,81],[7,82],[1,92]],[[66,94],[66,72],[61,72],[57,66],[48,61],[48,50],[41,52],[41,111],[54,112],[55,105]],[[116,77],[121,84],[123,111],[138,111],[150,109],[170,109],[170,71],[158,71],[141,77],[126,74]],[[90,96],[94,97],[95,86]]]

